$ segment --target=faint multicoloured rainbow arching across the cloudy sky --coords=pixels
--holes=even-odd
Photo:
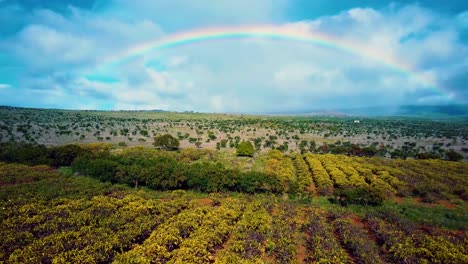
[[[391,53],[382,48],[376,48],[366,43],[351,42],[336,36],[327,35],[320,32],[311,31],[308,27],[297,27],[291,25],[272,26],[236,26],[236,27],[213,27],[180,32],[172,35],[166,35],[154,40],[150,40],[138,45],[132,46],[123,52],[112,57],[106,58],[101,65],[115,66],[126,60],[142,56],[149,52],[173,48],[182,45],[188,45],[198,42],[206,42],[218,39],[243,39],[243,38],[265,38],[274,40],[286,40],[293,42],[302,42],[315,46],[326,47],[353,54],[365,59],[369,59],[389,67],[395,71],[407,75],[412,81],[420,85],[432,87],[440,92],[436,82],[415,71],[411,65],[401,61]],[[447,92],[443,92],[447,94]]]

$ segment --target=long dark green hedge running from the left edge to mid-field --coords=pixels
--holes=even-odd
[[[72,166],[74,172],[104,182],[125,183],[135,187],[147,186],[155,190],[283,193],[297,189],[285,185],[275,174],[240,172],[227,169],[221,163],[193,162],[193,153],[183,152],[137,148],[111,154],[110,146],[103,144],[47,148],[44,145],[29,143],[2,143],[0,161],[54,167]],[[195,157],[195,160],[197,158],[200,157]]]

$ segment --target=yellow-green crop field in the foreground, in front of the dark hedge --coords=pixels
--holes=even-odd
[[[330,164],[339,157],[326,160],[326,171],[341,166]],[[465,164],[434,165],[447,166],[449,178],[466,187]],[[384,176],[373,166],[350,164],[341,176],[352,172],[356,179],[345,177],[351,184],[407,201],[424,196],[397,172],[389,173],[399,178]],[[431,164],[408,166],[418,171]],[[380,206],[343,207],[325,199],[333,195],[135,189],[44,165],[0,164],[0,174],[5,263],[465,263],[468,256],[466,190],[446,188],[437,197],[453,207],[392,196]],[[335,174],[328,178],[332,192],[344,180]],[[318,174],[310,177],[323,192]],[[448,179],[427,177],[449,186]]]

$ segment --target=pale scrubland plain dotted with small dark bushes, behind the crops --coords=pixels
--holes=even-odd
[[[448,150],[468,157],[468,123],[463,118],[275,117],[0,107],[0,142],[151,146],[152,137],[165,133],[177,137],[182,148],[233,149],[248,140],[263,153],[277,148],[283,152],[347,154],[346,149],[355,145],[370,155],[387,157],[444,158]]]

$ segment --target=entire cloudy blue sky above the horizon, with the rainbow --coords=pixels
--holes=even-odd
[[[0,0],[0,105],[305,113],[467,86],[466,0]]]

